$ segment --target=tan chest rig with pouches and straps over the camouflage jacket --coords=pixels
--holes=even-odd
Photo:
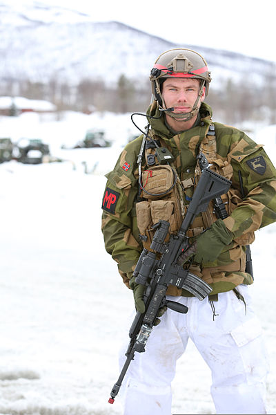
[[[144,150],[146,169],[141,173],[139,185],[143,201],[137,203],[137,225],[144,248],[150,250],[150,243],[155,232],[154,225],[160,219],[170,223],[168,237],[179,230],[184,219],[188,203],[193,196],[195,186],[201,176],[197,163],[193,177],[181,181],[175,167],[174,158],[161,139],[152,130]],[[206,156],[209,168],[231,180],[233,167],[226,159],[217,154],[215,126],[210,124],[206,136],[201,140],[199,152]],[[188,237],[195,237],[209,228],[218,218],[225,219],[237,204],[242,201],[239,191],[230,189],[220,200],[209,203],[206,212],[199,214],[187,232]],[[254,241],[254,234],[248,233],[235,239],[237,245],[247,245]]]

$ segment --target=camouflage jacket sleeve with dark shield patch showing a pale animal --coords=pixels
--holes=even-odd
[[[233,166],[233,187],[241,191],[243,185],[244,199],[224,219],[235,237],[276,221],[275,167],[262,145],[257,145],[242,131],[239,133],[239,140],[232,143],[228,161]]]

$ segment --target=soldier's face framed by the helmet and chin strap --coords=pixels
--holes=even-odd
[[[186,113],[193,109],[199,93],[199,81],[190,78],[168,78],[163,84],[162,95],[166,108],[174,107],[174,113]],[[205,98],[205,86],[197,107]]]

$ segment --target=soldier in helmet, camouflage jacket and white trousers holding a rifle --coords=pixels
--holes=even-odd
[[[150,246],[154,223],[169,221],[172,233],[179,228],[199,180],[199,152],[210,169],[232,181],[222,196],[226,215],[218,217],[211,204],[199,214],[188,230],[191,248],[181,257],[183,264],[191,261],[191,272],[213,292],[199,301],[184,289],[168,287],[167,297],[188,306],[188,313],[168,309],[146,353],[135,354],[124,383],[125,415],[171,414],[170,383],[188,338],[212,372],[218,414],[266,413],[268,362],[248,292],[253,275],[246,272],[246,246],[255,230],[276,220],[276,171],[262,145],[213,122],[204,102],[210,81],[199,53],[186,48],[162,53],[150,73],[154,100],[147,111],[146,145],[143,136],[130,142],[107,174],[102,205],[106,250],[141,313],[144,286],[132,272],[143,246]],[[172,155],[170,163],[162,151]]]

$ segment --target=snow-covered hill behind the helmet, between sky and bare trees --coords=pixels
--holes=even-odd
[[[148,79],[150,65],[164,50],[177,47],[165,39],[110,21],[95,23],[92,17],[69,10],[30,2],[14,6],[1,1],[1,81],[66,80],[74,85],[90,77],[114,82],[124,73]],[[272,63],[225,50],[195,48],[206,58],[213,86],[221,79],[247,77],[262,82]],[[254,75],[252,75],[254,74]]]

